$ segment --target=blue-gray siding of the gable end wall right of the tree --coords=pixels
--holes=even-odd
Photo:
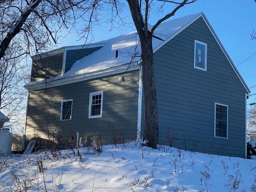
[[[207,71],[194,68],[194,40],[207,43]],[[246,90],[202,18],[154,53],[159,142],[245,156]],[[228,139],[214,137],[214,102],[228,105]]]

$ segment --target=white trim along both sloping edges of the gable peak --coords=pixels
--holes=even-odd
[[[250,93],[250,89],[248,88],[248,86],[246,85],[244,79],[242,78],[241,74],[238,72],[238,70],[236,69],[236,66],[234,65],[234,63],[232,62],[230,56],[228,55],[228,53],[226,52],[226,50],[224,49],[224,46],[221,44],[220,39],[218,38],[218,36],[216,35],[216,33],[214,32],[212,26],[210,25],[209,21],[207,20],[206,16],[204,15],[203,12],[201,12],[200,14],[198,14],[198,16],[196,16],[194,19],[192,19],[190,22],[188,22],[186,25],[184,25],[182,28],[180,28],[178,31],[176,31],[174,34],[172,34],[169,38],[167,38],[164,42],[162,42],[161,44],[159,44],[158,46],[156,46],[156,48],[153,49],[153,52],[156,52],[158,49],[160,49],[164,44],[166,44],[167,42],[169,42],[172,38],[174,38],[176,35],[178,35],[180,32],[182,32],[184,29],[186,29],[190,24],[192,24],[194,21],[196,21],[198,18],[202,17],[204,22],[206,23],[206,25],[208,26],[210,32],[212,33],[212,35],[214,36],[215,40],[217,41],[218,45],[220,46],[222,52],[224,53],[224,55],[226,56],[226,58],[228,59],[228,62],[230,63],[230,65],[232,66],[233,70],[235,71],[236,75],[238,76],[239,80],[241,81],[242,85],[244,86],[244,88],[246,89],[246,91],[248,92],[248,94]]]

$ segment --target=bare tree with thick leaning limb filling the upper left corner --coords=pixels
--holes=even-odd
[[[77,18],[91,15],[93,6],[90,0],[0,1],[0,110],[12,122],[20,122],[21,112],[24,118],[27,56],[52,48],[59,32],[70,32]]]

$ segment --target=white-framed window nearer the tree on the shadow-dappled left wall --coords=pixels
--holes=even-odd
[[[102,117],[103,91],[90,93],[88,118]]]

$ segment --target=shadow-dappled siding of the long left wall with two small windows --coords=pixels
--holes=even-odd
[[[100,134],[103,144],[110,144],[113,135],[125,142],[136,139],[138,115],[138,70],[121,75],[56,86],[44,90],[30,91],[26,119],[26,144],[34,137],[47,138],[48,130],[60,131],[63,140],[76,132],[83,136],[85,144],[88,136]],[[103,90],[102,118],[88,119],[89,95]],[[72,120],[60,121],[61,100],[73,99]]]

